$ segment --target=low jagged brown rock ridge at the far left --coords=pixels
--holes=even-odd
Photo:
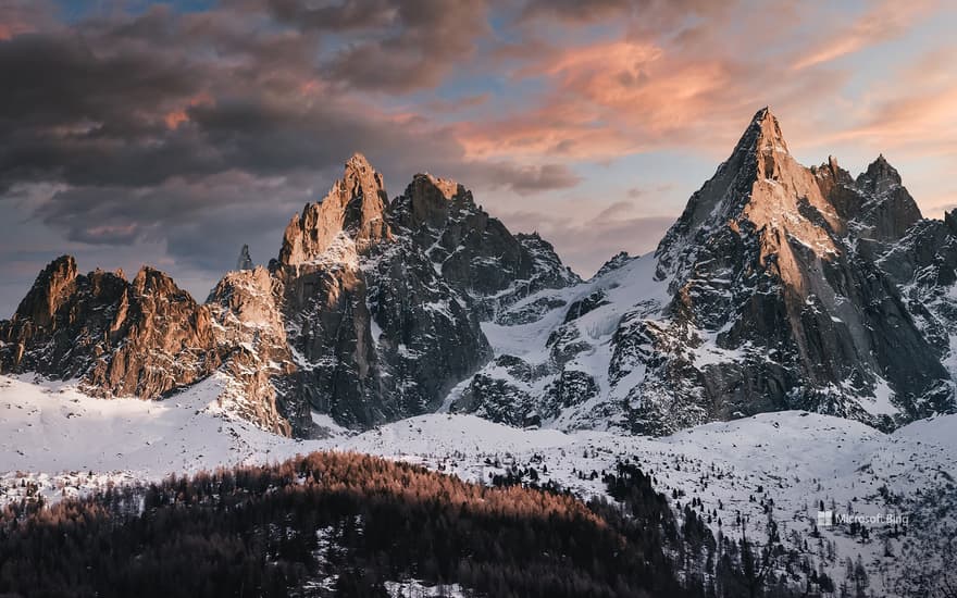
[[[80,275],[69,256],[40,273],[0,340],[3,372],[78,377],[100,396],[158,398],[220,364],[209,310],[169,276]]]

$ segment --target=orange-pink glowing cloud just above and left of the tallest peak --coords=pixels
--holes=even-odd
[[[509,114],[461,123],[457,133],[470,157],[723,152],[761,105],[803,107],[847,80],[829,70],[785,73],[744,53],[699,55],[625,37],[543,52],[515,76],[544,78],[550,88]]]

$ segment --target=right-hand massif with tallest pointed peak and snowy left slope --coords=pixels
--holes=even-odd
[[[500,314],[507,354],[453,408],[652,434],[783,409],[883,428],[952,410],[955,244],[883,157],[857,178],[833,158],[807,169],[765,109],[654,256]]]

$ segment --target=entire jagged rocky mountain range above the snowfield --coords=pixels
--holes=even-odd
[[[664,435],[807,410],[890,431],[955,410],[957,213],[922,217],[883,155],[806,167],[760,110],[654,253],[588,281],[462,185],[391,199],[361,154],[203,303],[154,269],[51,262],[0,373],[162,399],[208,378],[263,429],[315,437],[436,411]]]

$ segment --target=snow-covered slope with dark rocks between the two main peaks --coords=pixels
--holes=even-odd
[[[626,427],[625,398],[643,369],[617,335],[667,303],[655,264],[650,254],[620,259],[586,283],[536,292],[484,322],[496,358],[452,390],[445,410],[519,426]]]

